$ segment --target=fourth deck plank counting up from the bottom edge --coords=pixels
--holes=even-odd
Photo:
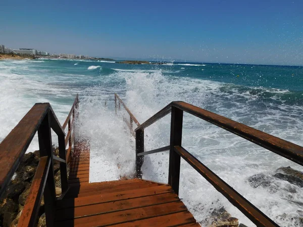
[[[172,188],[170,186],[156,186],[144,189],[134,189],[134,190],[126,190],[123,192],[114,192],[107,193],[102,196],[100,195],[92,195],[85,198],[71,198],[71,199],[63,199],[62,201],[57,201],[58,208],[66,208],[66,207],[77,207],[88,204],[97,204],[104,203],[110,201],[118,201],[129,198],[138,198],[150,195],[158,195],[163,193],[172,192]]]

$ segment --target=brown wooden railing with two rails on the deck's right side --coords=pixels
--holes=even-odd
[[[207,166],[197,160],[192,154],[182,147],[182,122],[183,112],[188,112],[197,118],[210,122],[220,128],[236,134],[252,143],[258,144],[276,154],[303,165],[303,147],[279,139],[254,128],[232,121],[216,113],[201,109],[197,106],[182,101],[171,102],[157,112],[143,124],[135,129],[136,135],[136,175],[142,177],[141,165],[143,155],[169,150],[168,183],[175,193],[179,193],[180,158],[187,161],[201,176],[210,182],[217,191],[223,194],[234,206],[246,215],[257,226],[278,226],[256,206],[251,204],[220,177],[213,173]],[[157,122],[171,112],[170,145],[144,152],[144,129]]]

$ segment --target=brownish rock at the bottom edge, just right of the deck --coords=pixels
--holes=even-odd
[[[226,226],[238,226],[238,218],[232,217],[224,207],[220,209],[214,209],[211,216],[205,220],[208,223],[208,227],[226,227]]]

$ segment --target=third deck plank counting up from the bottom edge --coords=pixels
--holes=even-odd
[[[72,207],[65,209],[64,212],[62,212],[62,210],[58,210],[56,212],[56,220],[74,219],[75,217],[117,212],[120,210],[164,204],[164,203],[169,203],[179,200],[180,200],[179,197],[175,193],[171,192],[166,194],[145,196],[145,197],[139,197],[134,199],[113,201],[107,203],[98,203],[98,204],[86,205],[81,207]]]

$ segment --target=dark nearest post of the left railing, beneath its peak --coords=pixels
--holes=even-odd
[[[51,159],[51,166],[49,167],[45,188],[44,188],[44,204],[45,204],[45,217],[46,226],[53,227],[55,223],[55,178],[54,178],[54,160],[53,160],[53,147],[52,147],[52,134],[51,124],[49,118],[49,110],[44,117],[38,129],[38,141],[40,157],[48,156]]]

